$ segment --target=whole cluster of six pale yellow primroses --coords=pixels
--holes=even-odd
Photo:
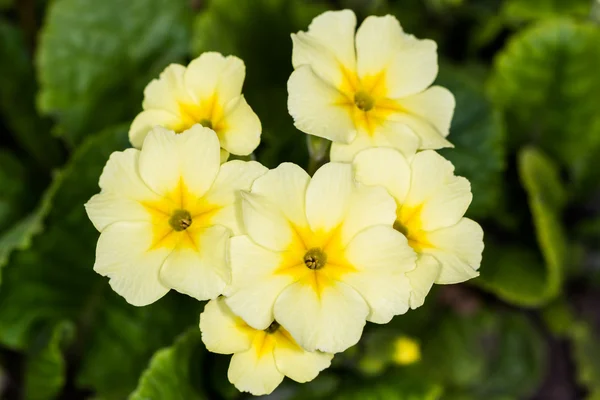
[[[312,177],[225,162],[256,149],[261,124],[241,95],[243,62],[205,53],[150,82],[135,148],[112,154],[86,204],[101,232],[94,270],[136,306],[170,289],[210,300],[203,341],[233,354],[229,380],[255,395],[284,376],[314,379],[367,321],[478,275],[469,182],[434,151],[451,146],[454,111],[452,94],[430,87],[436,45],[391,16],[355,28],[344,10],[292,35],[290,114],[333,141]]]

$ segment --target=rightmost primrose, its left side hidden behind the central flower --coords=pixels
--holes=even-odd
[[[406,159],[390,148],[360,152],[355,178],[385,187],[396,200],[394,228],[417,252],[417,267],[407,275],[411,308],[423,304],[433,283],[450,284],[479,275],[483,231],[463,218],[471,203],[471,185],[454,175],[452,163],[427,150]]]

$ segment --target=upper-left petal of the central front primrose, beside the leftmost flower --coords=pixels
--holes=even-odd
[[[296,164],[282,163],[257,179],[252,193],[277,204],[285,217],[296,227],[308,226],[306,220],[306,189],[310,176]]]

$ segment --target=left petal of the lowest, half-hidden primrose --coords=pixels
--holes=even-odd
[[[233,354],[248,350],[254,330],[231,312],[223,297],[209,301],[200,314],[202,341],[208,351]]]

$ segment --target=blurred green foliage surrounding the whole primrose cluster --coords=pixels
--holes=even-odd
[[[171,293],[135,308],[93,272],[83,203],[128,146],[144,86],[207,50],[246,62],[257,159],[307,167],[286,107],[289,34],[336,8],[391,13],[438,42],[438,83],[457,99],[442,154],[472,183],[486,249],[479,278],[369,324],[315,381],[270,398],[600,399],[590,0],[0,0],[0,398],[245,398],[229,356],[200,341],[202,303]]]

